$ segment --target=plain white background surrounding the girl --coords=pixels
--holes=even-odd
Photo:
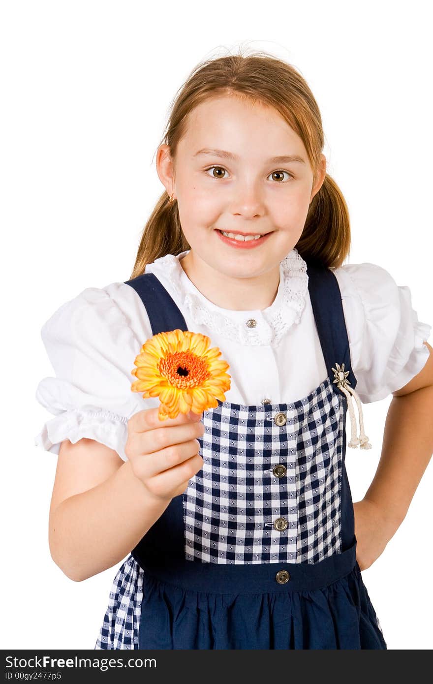
[[[75,583],[51,560],[56,456],[34,445],[51,418],[34,397],[53,374],[40,328],[82,289],[130,277],[163,192],[154,155],[168,108],[198,62],[244,47],[300,70],[350,209],[346,263],[386,268],[433,323],[428,12],[413,0],[2,3],[2,648],[96,642],[118,566]],[[374,448],[347,449],[355,501],[376,470],[391,398],[363,406]],[[432,491],[430,465],[363,572],[390,649],[433,645]]]

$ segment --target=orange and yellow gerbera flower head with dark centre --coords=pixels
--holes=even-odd
[[[192,411],[200,414],[224,402],[230,389],[230,367],[219,359],[218,347],[200,332],[172,330],[150,337],[135,358],[131,373],[138,378],[131,391],[142,392],[143,398],[159,397],[160,421],[176,418]]]

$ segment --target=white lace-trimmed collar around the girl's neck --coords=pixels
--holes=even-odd
[[[278,345],[283,334],[293,324],[299,323],[306,303],[309,277],[306,262],[296,248],[280,262],[276,298],[261,311],[233,311],[208,300],[189,280],[179,263],[188,252],[159,257],[146,265],[145,272],[157,276],[184,315],[186,309],[194,324],[206,326],[243,345]],[[251,320],[255,322],[254,327],[247,325]]]

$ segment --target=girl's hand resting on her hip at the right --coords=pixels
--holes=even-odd
[[[360,570],[367,570],[384,551],[395,533],[380,506],[369,499],[354,503],[356,560]]]

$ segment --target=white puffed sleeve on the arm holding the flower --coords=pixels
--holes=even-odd
[[[89,287],[60,306],[40,334],[55,377],[39,382],[36,399],[55,418],[43,425],[36,446],[58,454],[62,440],[86,437],[127,460],[127,421],[150,406],[131,391],[135,356],[152,337],[135,290],[123,282]]]

